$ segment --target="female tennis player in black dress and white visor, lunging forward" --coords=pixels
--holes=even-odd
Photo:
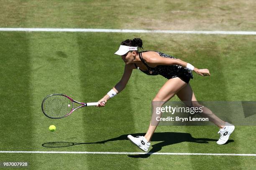
[[[142,45],[143,43],[140,38],[134,38],[133,40],[125,40],[121,42],[121,45],[115,54],[120,55],[122,60],[125,62],[123,77],[115,85],[115,87],[113,87],[113,89],[111,89],[102,99],[98,101],[100,103],[98,107],[104,107],[107,100],[114,97],[125,88],[133,69],[139,69],[147,75],[162,75],[168,79],[152,101],[161,101],[160,104],[157,104],[157,107],[161,107],[161,105],[170,100],[174,95],[177,95],[179,99],[189,107],[202,106],[197,102],[195,94],[189,84],[189,80],[193,78],[192,71],[201,76],[210,76],[209,70],[198,69],[187,62],[162,52],[139,52],[138,47],[143,49]],[[156,107],[156,105],[153,105],[153,110],[154,107]],[[208,117],[211,122],[220,128],[218,132],[220,134],[220,138],[217,141],[217,144],[225,144],[228,141],[230,134],[235,129],[235,126],[221,120],[207,107],[203,107],[200,115],[202,117]],[[152,135],[159,123],[153,119],[154,116],[152,114],[151,122],[146,135],[137,137],[128,135],[128,139],[145,152],[147,152],[148,148],[150,147]],[[152,125],[152,121],[156,123]]]

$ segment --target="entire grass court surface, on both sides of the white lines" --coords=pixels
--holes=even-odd
[[[253,30],[254,8],[253,1],[230,0],[1,1],[0,27]],[[210,77],[194,74],[190,81],[197,100],[256,100],[255,36],[0,32],[0,150],[141,152],[126,136],[146,132],[151,100],[164,77],[133,70],[125,90],[104,108],[82,108],[60,120],[41,112],[41,101],[51,93],[87,102],[104,96],[123,74],[124,63],[113,53],[121,41],[133,37],[143,39],[145,50],[208,68]],[[57,128],[53,133],[48,130],[52,124]],[[219,146],[215,126],[159,126],[151,152],[255,154],[255,130],[236,126],[232,141]],[[104,143],[96,144],[100,141]],[[50,142],[91,144],[42,146]],[[28,161],[33,170],[256,168],[255,157],[206,155],[1,153],[3,161]]]

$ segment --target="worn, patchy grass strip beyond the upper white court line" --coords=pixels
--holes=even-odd
[[[253,0],[1,0],[0,27],[248,30]]]

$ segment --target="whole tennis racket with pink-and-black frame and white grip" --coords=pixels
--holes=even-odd
[[[74,108],[75,103],[79,104],[76,108]],[[44,115],[51,119],[60,119],[67,117],[81,107],[97,105],[98,102],[77,102],[67,95],[53,94],[44,98],[42,102],[42,111]]]

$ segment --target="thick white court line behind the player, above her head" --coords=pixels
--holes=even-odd
[[[0,31],[28,32],[133,32],[133,33],[167,33],[167,34],[231,34],[256,35],[256,31],[182,31],[182,30],[123,30],[123,29],[82,29],[82,28],[0,28]]]

